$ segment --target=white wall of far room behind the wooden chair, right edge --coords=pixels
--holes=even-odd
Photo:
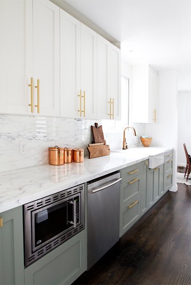
[[[178,92],[178,165],[186,166],[186,156],[183,143],[186,144],[188,154],[191,153],[191,91]]]

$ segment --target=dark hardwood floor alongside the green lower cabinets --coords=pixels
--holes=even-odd
[[[191,186],[167,192],[73,284],[191,284]]]

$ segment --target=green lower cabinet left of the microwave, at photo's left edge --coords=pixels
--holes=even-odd
[[[24,284],[22,207],[0,213],[0,284]]]

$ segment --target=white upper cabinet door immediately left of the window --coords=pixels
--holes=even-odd
[[[112,100],[112,117],[121,120],[121,51],[110,45],[110,96]]]

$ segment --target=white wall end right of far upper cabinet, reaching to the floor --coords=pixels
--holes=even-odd
[[[155,146],[174,147],[173,188],[177,190],[177,73],[176,71],[159,72],[159,123],[145,124],[145,135],[152,136]]]

